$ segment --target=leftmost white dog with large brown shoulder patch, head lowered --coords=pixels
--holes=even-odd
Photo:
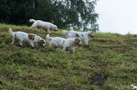
[[[25,42],[33,48],[37,46],[46,47],[46,41],[35,34],[28,34],[21,31],[13,32],[11,28],[9,28],[9,33],[12,35],[11,45],[14,45],[14,43],[18,41],[21,46],[23,46],[23,42]]]

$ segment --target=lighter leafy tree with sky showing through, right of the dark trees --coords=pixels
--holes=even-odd
[[[98,14],[95,12],[97,0],[52,0],[56,16],[55,22],[60,27],[79,29],[83,31],[97,31]]]

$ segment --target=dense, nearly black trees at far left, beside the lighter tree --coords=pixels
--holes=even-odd
[[[52,21],[53,10],[50,0],[0,0],[0,22],[29,24],[30,18]]]

